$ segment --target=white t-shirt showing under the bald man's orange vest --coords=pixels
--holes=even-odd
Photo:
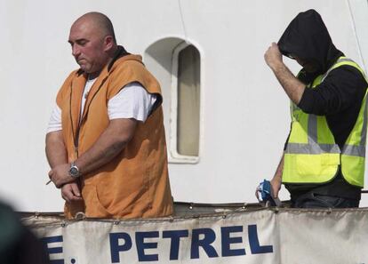
[[[85,84],[81,113],[83,113],[85,99],[95,80],[88,80]],[[134,118],[137,121],[145,122],[156,99],[156,94],[148,93],[139,83],[127,84],[124,89],[108,100],[108,119]],[[61,109],[55,104],[47,132],[60,131],[61,129]]]

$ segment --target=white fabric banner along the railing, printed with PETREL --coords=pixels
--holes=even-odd
[[[160,220],[24,218],[52,264],[368,264],[368,209],[261,209]]]

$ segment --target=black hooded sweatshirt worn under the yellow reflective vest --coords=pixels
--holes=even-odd
[[[310,84],[316,76],[324,74],[340,56],[344,56],[334,44],[321,16],[315,10],[300,12],[285,29],[278,47],[280,52],[313,63],[316,71],[301,69],[298,78]],[[340,149],[356,124],[367,83],[354,67],[340,66],[333,69],[322,84],[314,89],[306,88],[298,107],[305,113],[326,116]],[[309,191],[318,195],[360,199],[360,188],[343,179],[340,167],[332,181],[324,184],[287,184],[292,200]]]

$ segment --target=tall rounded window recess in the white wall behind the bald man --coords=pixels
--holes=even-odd
[[[196,164],[201,146],[201,56],[169,37],[151,44],[144,63],[161,84],[169,163]]]

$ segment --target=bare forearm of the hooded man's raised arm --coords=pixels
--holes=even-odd
[[[284,91],[290,100],[298,105],[306,85],[301,83],[300,80],[293,76],[290,69],[287,68],[283,62],[276,63],[271,67],[271,69],[274,72],[278,82],[281,84],[281,86],[283,86]]]

